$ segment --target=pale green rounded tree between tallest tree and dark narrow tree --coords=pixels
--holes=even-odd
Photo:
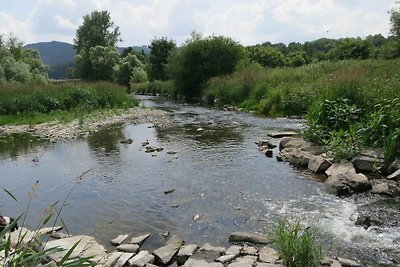
[[[132,71],[136,67],[144,70],[144,64],[142,61],[140,61],[138,57],[131,52],[114,67],[114,76],[116,81],[119,84],[129,86]]]

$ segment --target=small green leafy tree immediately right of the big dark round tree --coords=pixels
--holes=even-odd
[[[285,56],[273,47],[248,47],[250,61],[258,62],[264,67],[281,67],[285,64]]]

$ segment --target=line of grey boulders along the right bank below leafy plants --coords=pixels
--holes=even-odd
[[[291,137],[285,137],[290,135]],[[267,157],[273,156],[273,149],[279,145],[278,161],[288,161],[293,165],[325,174],[325,186],[328,192],[343,196],[369,191],[372,194],[400,196],[400,162],[394,161],[383,170],[389,175],[379,179],[369,179],[368,175],[377,172],[383,166],[383,153],[379,150],[362,151],[351,162],[335,163],[325,147],[301,138],[293,137],[293,133],[274,133],[271,137],[282,138],[279,144],[271,140],[256,142],[258,149]]]

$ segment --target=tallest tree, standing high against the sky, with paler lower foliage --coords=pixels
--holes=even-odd
[[[109,12],[93,11],[85,15],[74,39],[77,76],[87,80],[111,80],[110,70],[117,63],[115,49],[120,35]],[[105,61],[96,59],[97,55]]]

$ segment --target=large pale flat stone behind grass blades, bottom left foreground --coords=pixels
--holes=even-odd
[[[91,259],[91,261],[93,262],[101,262],[106,259],[106,249],[102,245],[97,243],[93,237],[85,235],[77,235],[68,238],[51,240],[45,244],[43,250],[56,247],[64,249],[64,251],[49,254],[49,258],[51,260],[59,262],[62,257],[64,257],[64,255],[68,252],[68,250],[78,242],[79,244],[72,252],[70,258],[94,256]]]

